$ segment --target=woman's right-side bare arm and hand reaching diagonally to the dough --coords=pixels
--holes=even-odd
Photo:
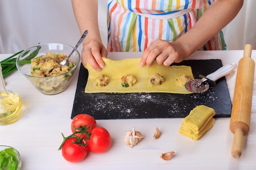
[[[216,0],[198,22],[178,40],[156,40],[148,46],[141,57],[140,66],[150,66],[153,60],[164,66],[182,62],[233,20],[242,6],[243,0]]]

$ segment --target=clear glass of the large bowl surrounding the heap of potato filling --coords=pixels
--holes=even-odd
[[[20,73],[25,75],[31,84],[33,84],[41,93],[45,95],[58,94],[65,91],[70,84],[72,76],[74,75],[74,72],[76,71],[76,68],[81,60],[80,53],[76,50],[70,56],[70,61],[74,63],[74,67],[70,71],[52,77],[31,76],[31,63],[27,64],[26,60],[31,60],[31,57],[37,59],[39,56],[46,55],[46,53],[51,52],[55,53],[56,55],[62,52],[64,55],[69,56],[73,49],[74,47],[61,43],[38,44],[20,53],[18,59],[16,60],[16,66]]]

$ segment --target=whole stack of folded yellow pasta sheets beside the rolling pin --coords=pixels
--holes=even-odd
[[[182,119],[179,133],[198,140],[214,123],[215,110],[204,105],[196,106]]]

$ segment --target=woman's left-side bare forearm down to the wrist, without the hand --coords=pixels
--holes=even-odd
[[[83,43],[90,40],[101,42],[98,24],[98,0],[72,0],[72,7],[81,34],[88,30],[88,35]]]

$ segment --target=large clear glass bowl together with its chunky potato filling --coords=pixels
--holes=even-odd
[[[81,60],[76,50],[69,66],[59,66],[74,47],[61,43],[45,43],[24,50],[16,60],[18,70],[40,93],[54,95],[66,90]]]

